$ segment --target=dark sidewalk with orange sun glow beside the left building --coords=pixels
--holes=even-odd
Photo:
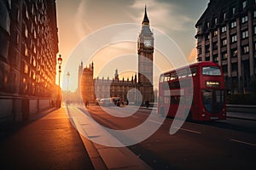
[[[1,169],[94,169],[64,108],[54,110],[0,141]]]

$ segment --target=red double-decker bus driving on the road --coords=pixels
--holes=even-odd
[[[204,61],[160,75],[158,113],[195,121],[226,119],[224,75],[221,67]],[[187,114],[187,115],[186,115]],[[177,117],[177,116],[176,116]]]

